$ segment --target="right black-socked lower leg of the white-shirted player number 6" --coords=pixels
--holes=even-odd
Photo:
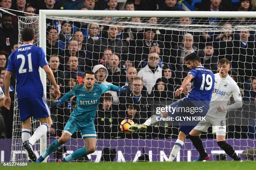
[[[230,157],[233,158],[233,160],[241,161],[241,158],[236,155],[235,150],[232,146],[230,146],[228,143],[225,142],[224,135],[216,135],[216,140],[221,149],[223,149]]]

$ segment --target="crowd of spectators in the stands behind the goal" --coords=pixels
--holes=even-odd
[[[198,10],[253,11],[256,9],[255,0],[240,0],[237,6],[232,6],[228,2],[231,0],[202,0]],[[8,56],[20,46],[18,16],[33,16],[38,14],[40,9],[118,10],[118,2],[117,0],[0,0],[0,7],[16,10],[9,11],[17,15],[0,11],[0,86],[4,89]],[[125,3],[124,10],[183,9],[178,7],[177,0],[131,0]],[[166,18],[166,20],[172,19]],[[158,20],[159,18],[152,17],[147,18],[146,22],[158,23]],[[123,94],[113,91],[102,94],[95,118],[98,138],[118,139],[177,137],[178,128],[173,128],[170,124],[156,124],[148,127],[147,132],[133,134],[120,132],[119,124],[125,118],[141,124],[154,114],[154,106],[158,106],[160,102],[161,104],[174,102],[189,94],[192,84],[184,89],[182,96],[174,96],[174,91],[179,88],[189,71],[184,61],[184,57],[188,54],[198,53],[203,66],[213,73],[218,71],[218,60],[228,58],[232,68],[230,75],[238,83],[243,100],[248,101],[244,106],[246,111],[241,115],[234,112],[233,117],[240,115],[249,120],[249,125],[239,126],[240,129],[236,125],[228,126],[228,137],[255,137],[256,33],[248,29],[232,30],[235,25],[253,24],[254,20],[253,18],[230,18],[230,20],[178,18],[178,24],[192,25],[204,21],[210,25],[221,25],[228,30],[193,32],[124,28],[48,19],[46,59],[62,94],[70,91],[75,85],[83,83],[85,70],[92,70],[99,84],[128,86],[130,90]],[[129,21],[142,22],[141,18],[130,18]],[[10,88],[14,101],[15,75],[12,76]],[[61,135],[71,112],[76,107],[76,98],[72,97],[61,107],[52,107],[52,101],[56,97],[53,91],[54,86],[47,79],[47,99],[53,121],[49,136],[57,137]],[[1,108],[0,138],[12,137],[12,125],[13,103],[10,110]],[[81,136],[75,133],[72,137]]]

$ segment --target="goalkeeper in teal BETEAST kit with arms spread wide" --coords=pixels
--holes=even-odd
[[[58,162],[68,162],[75,160],[79,157],[84,157],[90,153],[95,152],[96,148],[96,131],[94,125],[95,114],[98,108],[100,95],[106,91],[126,91],[126,88],[121,88],[115,85],[95,84],[95,74],[92,71],[85,71],[84,84],[76,85],[71,91],[65,94],[58,101],[54,101],[55,104],[60,106],[64,101],[69,100],[72,96],[77,97],[77,107],[72,112],[69,120],[64,127],[62,135],[59,139],[56,139],[46,149],[36,162],[42,162],[48,155],[55,152],[56,149],[66,143],[72,134],[80,130],[81,136],[84,139],[85,147],[74,151],[72,154],[63,157]]]

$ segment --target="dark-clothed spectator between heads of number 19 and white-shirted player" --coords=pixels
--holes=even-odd
[[[201,58],[202,65],[211,70],[214,74],[218,71],[218,57],[213,56],[214,49],[211,45],[206,45],[204,50],[204,58]]]

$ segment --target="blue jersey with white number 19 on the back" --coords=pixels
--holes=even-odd
[[[191,74],[192,89],[188,99],[191,101],[209,101],[212,99],[212,90],[214,89],[215,76],[209,69],[198,66],[191,69],[188,74]]]

